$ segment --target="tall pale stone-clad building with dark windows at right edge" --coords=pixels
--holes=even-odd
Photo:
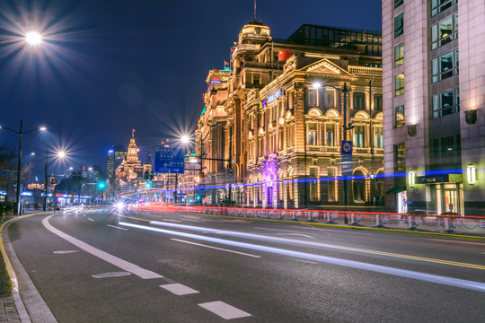
[[[386,204],[399,212],[485,206],[484,19],[478,0],[383,1]]]

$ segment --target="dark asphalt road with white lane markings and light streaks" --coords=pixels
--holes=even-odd
[[[58,322],[479,322],[485,315],[485,240],[78,208],[22,218],[8,238]],[[25,301],[33,287],[19,284]]]

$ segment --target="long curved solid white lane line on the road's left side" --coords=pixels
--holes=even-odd
[[[110,263],[111,265],[118,266],[119,268],[125,271],[128,271],[133,275],[137,275],[140,278],[143,278],[143,279],[163,278],[163,275],[158,275],[153,271],[147,270],[145,268],[132,264],[126,260],[110,255],[108,252],[104,252],[101,249],[94,248],[93,246],[81,240],[77,240],[74,237],[71,237],[70,235],[64,233],[63,231],[57,230],[52,225],[50,225],[50,223],[48,223],[48,220],[52,216],[54,215],[50,215],[44,218],[42,220],[42,224],[44,224],[44,226],[48,231],[51,231],[52,233],[56,234],[62,239],[74,244],[77,248],[83,249],[84,251],[89,252],[93,256],[96,256],[97,258],[101,258],[102,260]]]

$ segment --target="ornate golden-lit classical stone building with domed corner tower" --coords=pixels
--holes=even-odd
[[[205,156],[231,157],[234,177],[222,172],[225,162],[203,161],[203,170],[220,174],[226,194],[231,185],[232,201],[270,208],[342,204],[344,83],[355,126],[348,139],[356,145],[350,204],[384,199],[375,179],[384,173],[379,33],[303,25],[275,41],[268,26],[250,22],[234,43],[231,65],[217,71],[224,73],[218,87],[210,83],[214,72],[207,77],[196,137],[198,144],[204,138]]]

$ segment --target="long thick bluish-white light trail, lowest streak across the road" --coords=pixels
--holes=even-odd
[[[283,256],[303,258],[303,259],[318,261],[318,262],[327,263],[331,265],[347,266],[350,268],[367,270],[367,271],[382,273],[386,275],[395,275],[395,276],[400,276],[404,278],[420,280],[428,283],[444,284],[447,286],[464,288],[464,289],[469,289],[477,292],[485,292],[485,284],[453,278],[453,277],[446,277],[442,275],[432,275],[432,274],[420,273],[412,270],[392,268],[389,266],[373,265],[373,264],[367,264],[367,263],[353,261],[353,260],[313,255],[305,252],[261,246],[261,245],[246,243],[246,242],[238,242],[234,240],[224,240],[219,238],[200,236],[198,234],[193,234],[193,233],[171,231],[171,230],[154,228],[154,227],[149,227],[149,226],[139,225],[134,223],[119,223],[119,225],[125,225],[128,227],[137,228],[141,230],[155,231],[159,233],[171,234],[179,237],[191,238],[196,240],[210,241],[210,242],[215,242],[215,243],[224,244],[228,246],[240,247],[243,249],[260,250],[260,251],[283,255]]]

